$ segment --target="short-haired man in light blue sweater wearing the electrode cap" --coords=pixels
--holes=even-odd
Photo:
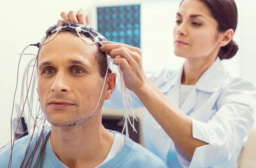
[[[62,26],[67,25],[70,23],[62,23]],[[147,149],[123,134],[104,128],[102,105],[111,98],[116,74],[108,71],[105,80],[106,54],[99,50],[99,45],[87,44],[74,34],[75,30],[63,28],[41,47],[38,95],[52,127],[44,131],[44,140],[37,148],[36,136],[28,149],[28,137],[17,140],[12,152],[12,167],[21,164],[22,167],[44,168],[165,167],[163,161]],[[1,168],[8,167],[10,153],[11,146],[0,150]]]

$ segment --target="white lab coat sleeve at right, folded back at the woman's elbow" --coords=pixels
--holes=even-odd
[[[203,168],[230,160],[253,126],[255,103],[255,85],[233,79],[216,102],[218,110],[208,123],[191,118],[193,137],[209,144],[196,148],[192,160],[175,146],[180,163],[185,168]]]

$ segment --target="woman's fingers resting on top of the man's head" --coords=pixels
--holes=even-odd
[[[80,9],[79,11],[69,11],[68,14],[63,11],[61,12],[61,18],[63,20],[58,20],[59,25],[63,21],[70,21],[89,26],[89,18],[87,16],[87,12],[84,9]]]

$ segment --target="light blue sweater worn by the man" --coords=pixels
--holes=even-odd
[[[44,138],[48,133],[49,129],[44,131]],[[24,165],[26,165],[28,158],[32,153],[32,150],[35,147],[35,140],[36,136],[33,136],[32,143],[30,145]],[[39,154],[41,144],[42,143],[40,143],[37,150],[35,151],[35,157],[33,159],[31,167],[33,167],[35,160]],[[12,153],[11,168],[20,168],[20,164],[25,156],[27,145],[28,136],[15,141]],[[0,168],[8,168],[11,150],[11,145],[6,146],[0,150]],[[46,151],[44,155],[44,168],[66,168],[66,166],[53,153],[52,149],[49,146],[49,141],[47,141],[46,144]],[[119,151],[119,153],[111,160],[99,166],[99,168],[166,168],[166,166],[159,157],[155,156],[143,146],[140,146],[131,139],[126,138],[125,145],[123,146],[121,151]]]

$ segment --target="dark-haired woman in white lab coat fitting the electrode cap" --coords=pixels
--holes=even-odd
[[[87,20],[84,10],[62,12],[61,17],[84,24]],[[121,56],[114,62],[133,92],[133,105],[147,109],[146,147],[170,168],[237,167],[254,122],[256,87],[230,76],[221,63],[238,50],[236,26],[234,0],[182,0],[173,34],[175,55],[185,62],[179,70],[170,67],[150,77],[143,71],[139,48],[115,42],[101,48],[112,58]],[[122,108],[119,96],[117,88],[105,106]]]

